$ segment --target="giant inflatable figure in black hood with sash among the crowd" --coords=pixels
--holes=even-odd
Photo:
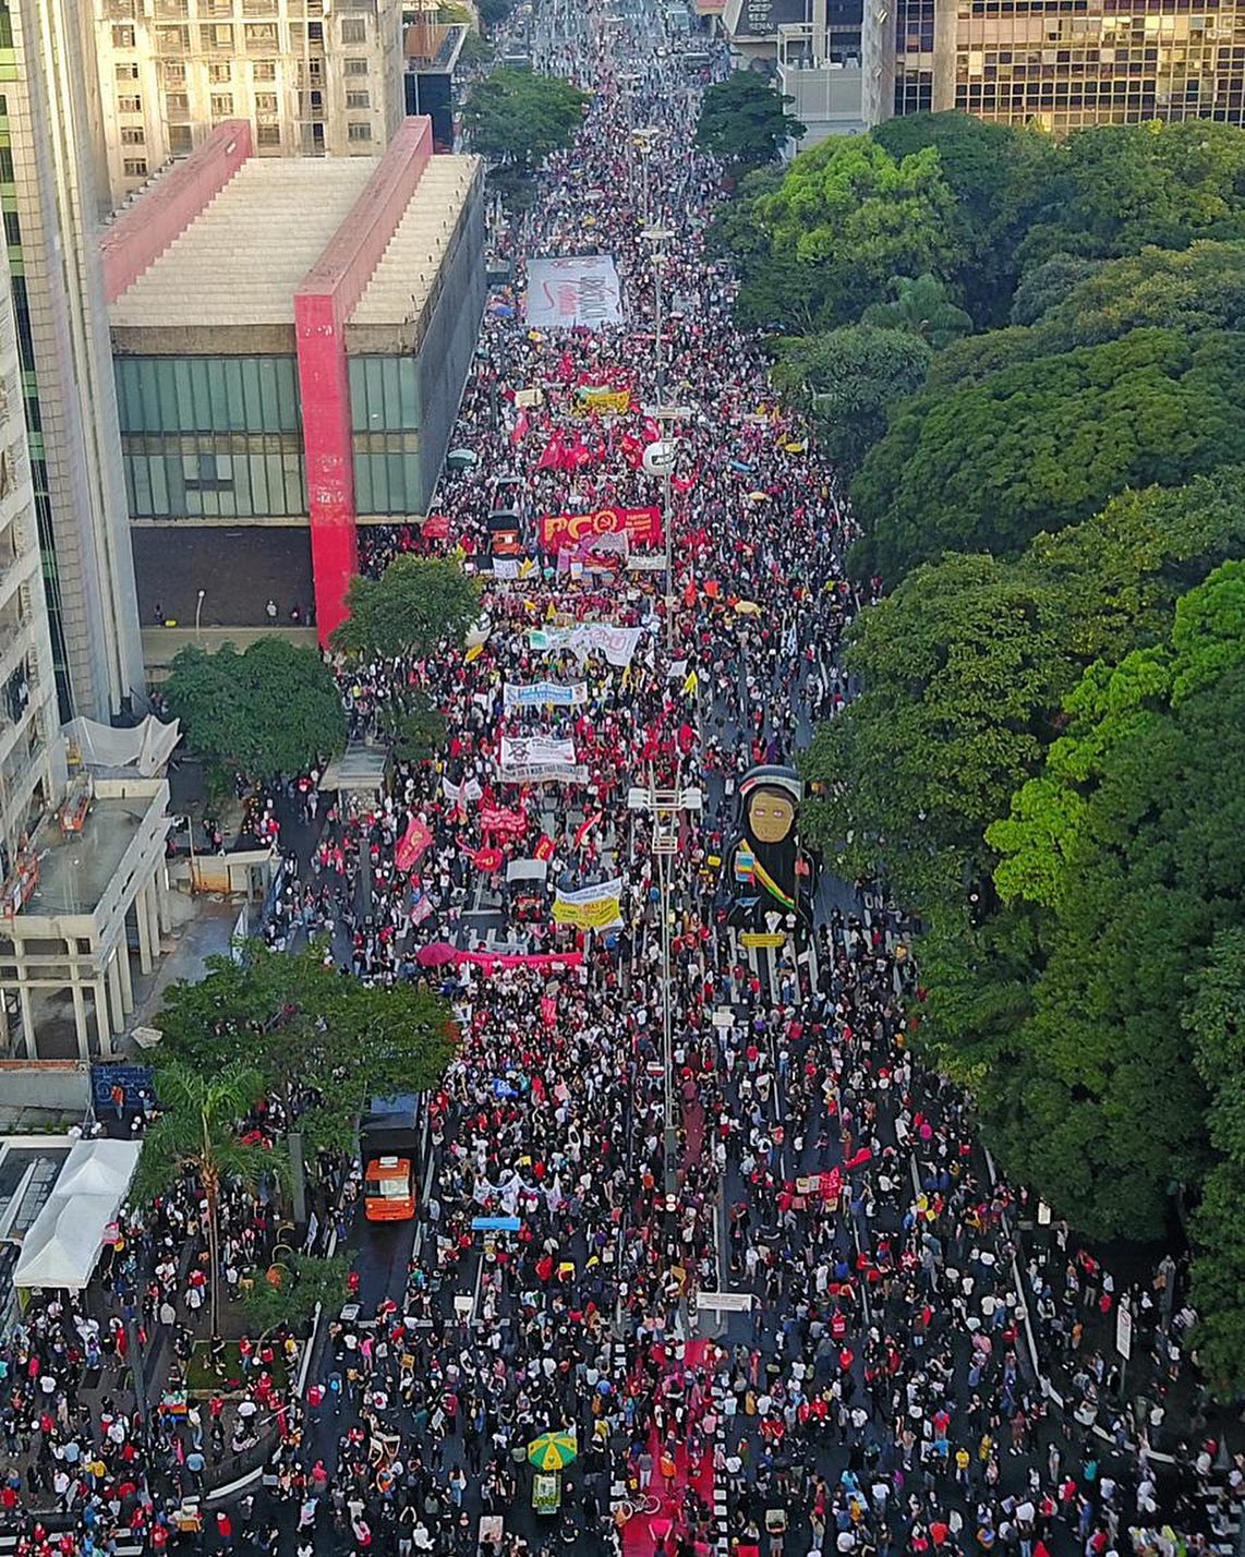
[[[766,930],[767,914],[812,928],[814,861],[800,849],[805,785],[794,768],[752,768],[739,783],[739,831],[722,861],[731,925]],[[772,920],[770,920],[772,923]]]

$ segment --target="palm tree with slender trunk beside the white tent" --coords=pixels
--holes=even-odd
[[[191,1171],[207,1202],[209,1299],[212,1334],[219,1322],[219,1211],[226,1183],[258,1188],[265,1176],[282,1179],[285,1155],[247,1146],[238,1121],[263,1095],[263,1076],[251,1065],[233,1063],[204,1073],[173,1060],[156,1073],[160,1116],[143,1141],[135,1174],[135,1197],[149,1200]]]

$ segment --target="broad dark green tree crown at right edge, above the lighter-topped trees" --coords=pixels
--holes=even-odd
[[[1133,330],[907,402],[851,487],[862,570],[1019,551],[1127,486],[1178,486],[1239,455],[1245,336]]]

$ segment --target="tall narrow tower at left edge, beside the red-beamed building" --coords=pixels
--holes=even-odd
[[[143,666],[103,296],[90,8],[0,0],[0,204],[62,716],[131,707]]]

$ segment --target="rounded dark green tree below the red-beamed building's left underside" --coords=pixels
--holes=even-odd
[[[162,688],[187,746],[216,782],[300,774],[345,747],[333,673],[316,649],[260,638],[241,654],[181,649]]]

